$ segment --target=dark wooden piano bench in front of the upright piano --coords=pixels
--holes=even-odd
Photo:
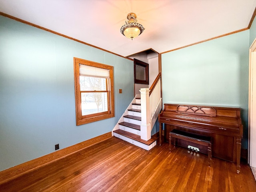
[[[174,147],[176,147],[176,138],[188,142],[200,144],[208,147],[208,166],[210,167],[210,160],[212,158],[212,138],[200,134],[194,134],[186,131],[174,129],[169,132],[169,150],[171,152],[171,142],[173,138]]]

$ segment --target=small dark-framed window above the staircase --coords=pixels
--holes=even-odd
[[[148,64],[134,58],[134,83],[149,84]]]

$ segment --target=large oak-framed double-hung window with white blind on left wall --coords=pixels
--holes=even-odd
[[[76,125],[114,117],[113,66],[74,58]]]

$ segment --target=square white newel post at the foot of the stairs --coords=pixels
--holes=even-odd
[[[147,141],[151,139],[150,103],[149,103],[148,88],[140,89],[140,106],[141,106],[140,138]]]

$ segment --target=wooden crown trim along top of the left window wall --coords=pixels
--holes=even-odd
[[[83,41],[80,41],[80,40],[78,40],[78,39],[72,38],[72,37],[70,37],[70,36],[67,36],[67,35],[58,33],[58,32],[56,32],[56,31],[53,31],[53,30],[50,30],[50,29],[41,27],[41,26],[39,26],[39,25],[30,23],[30,22],[28,22],[28,21],[22,20],[22,19],[20,19],[20,18],[11,16],[11,15],[8,15],[8,14],[6,14],[6,13],[0,12],[0,15],[2,15],[2,16],[4,16],[4,17],[7,17],[7,18],[10,18],[10,19],[12,19],[12,20],[16,20],[16,21],[18,21],[18,22],[21,22],[21,23],[30,25],[30,26],[32,26],[32,27],[36,27],[36,28],[38,28],[38,29],[45,30],[45,31],[47,31],[47,32],[50,32],[50,33],[53,33],[53,34],[62,36],[62,37],[64,37],[64,38],[68,38],[68,39],[74,40],[74,41],[76,41],[76,42],[79,42],[79,43],[82,43],[82,44],[85,44],[85,45],[94,47],[94,48],[96,48],[96,49],[100,49],[100,50],[102,50],[102,51],[106,51],[106,52],[111,53],[111,54],[114,54],[114,55],[116,55],[116,56],[120,56],[120,57],[122,57],[122,58],[125,58],[125,59],[132,60],[132,61],[133,61],[133,59],[131,59],[131,58],[124,57],[124,56],[122,56],[122,55],[119,55],[119,54],[116,54],[116,53],[114,53],[114,52],[108,51],[108,50],[106,50],[106,49],[102,49],[102,48],[97,47],[97,46],[94,46],[94,45],[92,45],[92,44],[88,44],[88,43],[86,43],[86,42],[83,42]]]

